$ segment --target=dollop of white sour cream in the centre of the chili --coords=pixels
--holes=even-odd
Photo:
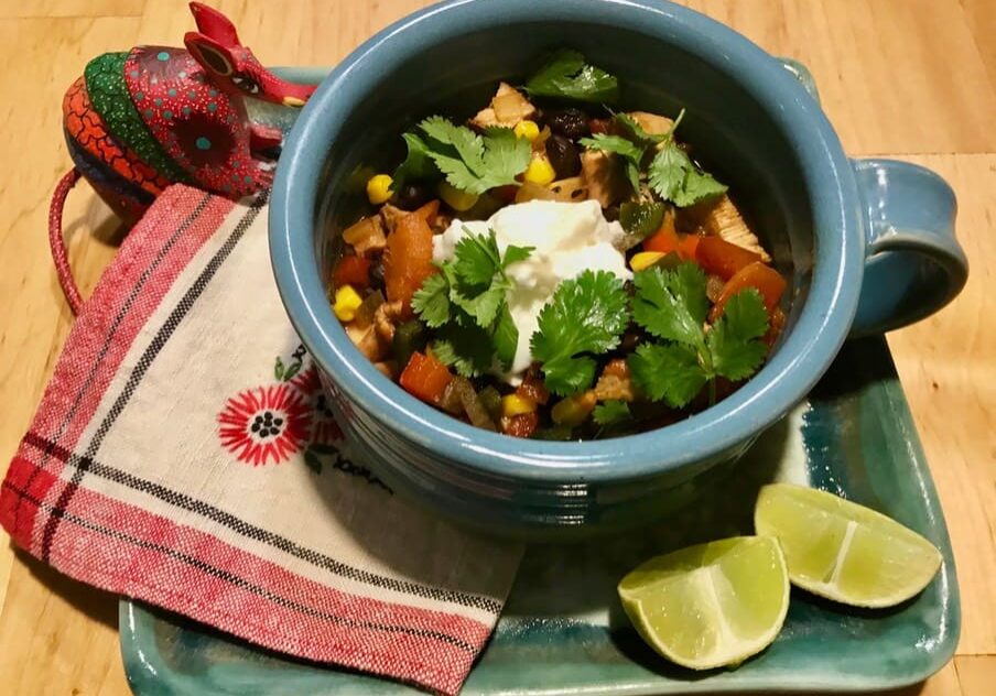
[[[533,247],[528,259],[507,270],[515,281],[515,289],[508,293],[508,307],[519,329],[519,344],[511,369],[496,373],[508,383],[518,384],[532,363],[529,341],[538,328],[540,311],[562,281],[585,270],[608,271],[624,281],[632,278],[626,268],[626,255],[613,243],[625,232],[621,225],[605,219],[597,200],[530,200],[506,206],[488,220],[454,219],[445,232],[433,238],[433,260],[439,263],[452,259],[467,230],[486,235],[488,229],[495,230],[502,254],[510,244]]]

